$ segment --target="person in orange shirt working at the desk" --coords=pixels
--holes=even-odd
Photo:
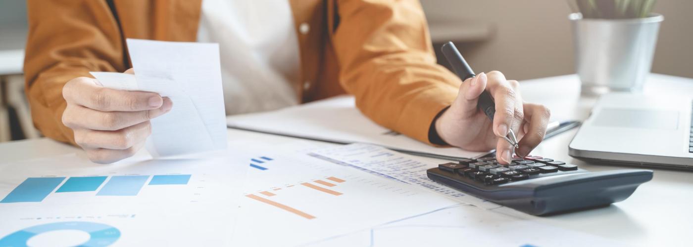
[[[523,102],[498,71],[462,82],[436,63],[415,0],[28,1],[24,71],[35,126],[91,161],[132,156],[149,120],[175,107],[143,91],[107,89],[89,71],[130,68],[126,38],[220,44],[227,114],[350,93],[365,116],[430,145],[497,149],[509,163],[545,134],[550,113]],[[128,69],[130,68],[130,69]],[[204,83],[204,82],[200,82]],[[487,90],[491,122],[476,107]],[[519,148],[504,139],[518,134]]]

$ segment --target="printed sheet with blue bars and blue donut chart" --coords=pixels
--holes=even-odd
[[[74,154],[0,164],[0,246],[225,246],[247,167]]]

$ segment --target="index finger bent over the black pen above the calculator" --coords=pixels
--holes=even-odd
[[[498,137],[507,136],[508,129],[514,127],[518,102],[515,90],[505,80],[505,75],[498,71],[489,72],[486,86],[495,101],[495,116],[493,116],[493,133]],[[518,125],[517,125],[518,126]]]

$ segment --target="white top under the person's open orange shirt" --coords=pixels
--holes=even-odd
[[[219,43],[227,115],[299,103],[299,45],[286,0],[204,0],[198,42]]]

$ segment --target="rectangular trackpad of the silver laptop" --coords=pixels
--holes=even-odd
[[[643,129],[678,129],[678,111],[656,111],[604,108],[595,119],[595,126]]]

